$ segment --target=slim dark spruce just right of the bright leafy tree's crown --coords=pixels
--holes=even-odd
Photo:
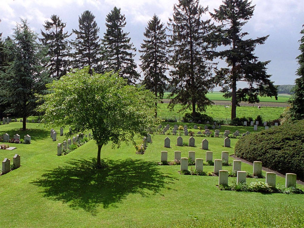
[[[163,98],[166,82],[165,75],[168,64],[166,28],[161,20],[154,14],[153,18],[148,21],[143,35],[147,38],[141,44],[142,55],[140,56],[140,67],[145,78],[143,84],[145,88],[154,92],[155,97]],[[157,102],[155,102],[155,116],[157,116]]]

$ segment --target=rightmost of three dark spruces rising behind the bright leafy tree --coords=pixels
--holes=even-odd
[[[119,76],[128,80],[129,84],[134,84],[140,75],[136,71],[136,63],[133,57],[136,51],[129,33],[125,33],[123,28],[126,25],[126,17],[121,15],[120,8],[116,6],[106,16],[106,32],[102,40],[104,45],[104,61],[106,71],[119,71]]]

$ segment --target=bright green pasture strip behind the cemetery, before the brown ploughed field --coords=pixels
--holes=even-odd
[[[184,113],[178,112],[182,106],[175,105],[174,110],[170,111],[166,103],[157,104],[159,110],[157,111],[157,116],[162,119],[178,119],[181,120],[186,112],[191,112],[186,110]],[[285,108],[283,107],[257,107],[241,106],[237,107],[237,117],[252,117],[255,119],[258,115],[261,115],[264,121],[278,119],[280,114]],[[231,120],[231,108],[225,108],[223,105],[212,105],[208,106],[205,112],[208,116],[212,116],[215,120],[224,120],[228,122]]]

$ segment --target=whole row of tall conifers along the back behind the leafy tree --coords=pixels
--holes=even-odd
[[[45,21],[39,38],[21,19],[12,37],[2,40],[0,34],[0,112],[5,107],[6,113],[23,119],[35,114],[34,95],[45,93],[47,83],[89,66],[91,74],[92,69],[96,73],[113,71],[129,85],[140,82],[156,98],[163,98],[170,88],[169,108],[182,104],[182,110],[192,110],[193,116],[212,105],[206,94],[219,85],[224,96],[231,98],[233,119],[239,102],[259,102],[258,95],[277,98],[278,93],[266,72],[269,61],[261,62],[254,55],[256,45],[264,44],[268,36],[247,38],[249,34],[242,30],[253,16],[251,3],[224,0],[211,13],[199,0],[179,0],[167,26],[154,15],[139,50],[143,80],[136,71],[136,48],[124,31],[126,18],[121,9],[114,7],[106,16],[102,38],[95,16],[88,10],[72,30],[74,40],[57,15]],[[203,19],[207,14],[210,18]],[[217,68],[217,59],[225,60],[226,67]],[[239,81],[247,82],[247,88],[237,88]]]

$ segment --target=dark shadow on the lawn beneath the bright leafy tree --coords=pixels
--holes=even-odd
[[[134,193],[156,194],[176,180],[162,173],[157,163],[139,159],[103,160],[102,169],[95,169],[94,159],[67,163],[69,165],[47,171],[32,183],[44,188],[45,197],[93,215],[99,205],[107,208]]]

